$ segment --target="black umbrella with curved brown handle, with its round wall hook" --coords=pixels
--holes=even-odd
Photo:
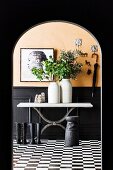
[[[94,64],[93,82],[92,82],[92,97],[94,97],[95,85],[96,85],[96,80],[97,80],[97,69],[98,69],[98,66],[99,66],[99,64],[98,64],[98,54],[96,53],[98,51],[98,46],[92,45],[91,51],[93,52],[92,58],[96,57],[96,63]]]

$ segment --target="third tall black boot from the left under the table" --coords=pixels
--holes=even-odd
[[[30,144],[35,144],[35,124],[34,123],[29,123],[30,127]]]

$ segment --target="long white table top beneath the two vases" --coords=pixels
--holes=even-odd
[[[93,107],[91,103],[34,103],[34,102],[21,102],[17,107]]]

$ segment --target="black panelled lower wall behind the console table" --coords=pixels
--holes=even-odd
[[[43,87],[19,87],[13,88],[13,138],[16,137],[15,122],[28,122],[28,108],[17,108],[19,102],[34,102],[36,94],[45,92],[47,101],[47,88]],[[73,102],[91,102],[93,108],[79,108],[71,112],[70,115],[79,115],[79,135],[81,140],[97,139],[101,140],[101,89],[95,89],[94,97],[91,97],[92,88],[73,88]],[[59,120],[66,113],[65,108],[43,108],[42,113],[50,120]],[[38,122],[39,117],[35,110],[31,109],[31,121]],[[66,126],[66,121],[62,122]],[[42,128],[46,123],[42,120]],[[46,129],[41,138],[44,139],[64,139],[65,131],[58,126]],[[29,138],[29,135],[28,135]]]

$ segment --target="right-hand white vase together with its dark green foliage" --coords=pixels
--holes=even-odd
[[[56,61],[56,78],[60,82],[61,102],[72,102],[72,85],[70,79],[76,79],[81,72],[82,63],[77,62],[76,51],[62,50],[59,60]]]

